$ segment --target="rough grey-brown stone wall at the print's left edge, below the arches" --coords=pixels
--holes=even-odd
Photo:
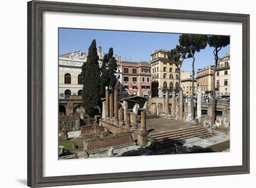
[[[79,131],[80,130],[80,119],[78,117],[68,117],[68,116],[60,116],[59,117],[59,132],[61,132],[62,128],[67,126],[67,132]]]

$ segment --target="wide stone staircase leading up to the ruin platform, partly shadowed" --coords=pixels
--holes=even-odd
[[[149,140],[155,142],[158,149],[166,149],[180,140],[193,137],[209,138],[211,136],[212,134],[206,128],[202,126],[193,126],[186,129],[151,134]]]

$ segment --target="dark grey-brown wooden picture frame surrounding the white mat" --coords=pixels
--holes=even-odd
[[[165,19],[242,23],[243,27],[243,164],[194,169],[124,173],[43,176],[43,12],[89,13]],[[249,173],[249,15],[199,11],[108,6],[51,1],[27,4],[27,185],[64,186]]]

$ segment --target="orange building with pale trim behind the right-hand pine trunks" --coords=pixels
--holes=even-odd
[[[202,94],[210,94],[213,91],[214,65],[198,69],[196,72],[196,83],[201,84]]]

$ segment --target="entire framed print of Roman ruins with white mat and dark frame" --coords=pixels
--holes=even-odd
[[[27,13],[28,186],[249,173],[249,15]]]

